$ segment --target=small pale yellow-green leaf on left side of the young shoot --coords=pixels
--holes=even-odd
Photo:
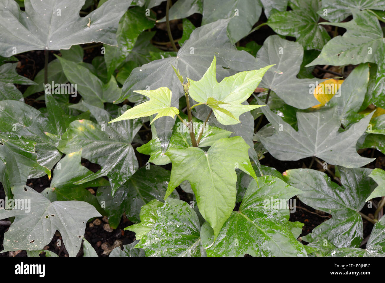
[[[175,118],[175,115],[179,114],[178,108],[171,107],[172,93],[171,90],[169,90],[167,87],[160,87],[156,90],[135,90],[134,92],[140,93],[148,97],[150,100],[130,108],[121,116],[115,118],[109,123],[147,117],[158,113],[155,118],[152,119],[151,123],[153,123],[157,118],[164,116]]]

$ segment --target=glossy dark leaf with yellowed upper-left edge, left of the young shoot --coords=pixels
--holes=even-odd
[[[76,120],[62,135],[58,148],[66,154],[82,149],[82,157],[99,164],[102,169],[77,184],[107,176],[114,193],[134,174],[138,168],[131,142],[142,126],[139,120],[124,120],[107,124],[111,115],[98,107],[84,103],[96,118],[98,124],[89,120]],[[119,109],[122,114],[128,108]]]

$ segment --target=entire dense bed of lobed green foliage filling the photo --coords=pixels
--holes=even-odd
[[[385,255],[384,10],[0,0],[2,255]]]

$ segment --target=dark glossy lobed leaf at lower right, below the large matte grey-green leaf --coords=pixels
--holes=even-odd
[[[358,213],[365,199],[376,187],[368,175],[368,168],[338,167],[342,186],[330,180],[323,172],[312,169],[286,171],[288,183],[305,193],[298,195],[303,203],[332,215],[330,220],[313,229],[305,241],[330,241],[338,248],[359,247],[363,240],[363,222]]]

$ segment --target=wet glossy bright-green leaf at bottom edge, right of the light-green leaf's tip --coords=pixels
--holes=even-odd
[[[207,255],[306,256],[305,248],[291,233],[286,207],[286,201],[302,191],[273,176],[256,180],[251,181],[239,210],[233,211],[207,248]]]

